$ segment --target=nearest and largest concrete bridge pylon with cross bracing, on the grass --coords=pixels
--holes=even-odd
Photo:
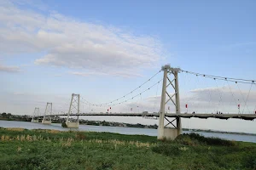
[[[181,118],[177,116],[174,120],[170,121],[166,117],[166,104],[172,103],[172,105],[174,105],[175,107],[176,114],[180,114],[180,100],[177,75],[181,70],[179,68],[172,68],[170,65],[165,65],[162,67],[162,71],[164,71],[164,78],[160,101],[160,119],[157,138],[172,140],[182,133]],[[171,90],[168,90],[169,87],[171,87],[172,91],[174,91],[172,94],[170,93]],[[168,122],[166,125],[165,120]],[[176,126],[174,122],[176,122]],[[167,127],[170,124],[174,128]]]

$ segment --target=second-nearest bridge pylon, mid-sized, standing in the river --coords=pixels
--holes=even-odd
[[[67,113],[67,127],[79,127],[80,94],[72,94],[69,110]],[[77,114],[78,116],[71,116]]]

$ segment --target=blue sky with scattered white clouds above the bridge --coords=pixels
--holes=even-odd
[[[81,96],[81,111],[105,112],[108,106],[88,101],[108,103],[128,94],[125,101],[153,85],[111,111],[158,112],[159,71],[166,64],[255,80],[255,6],[253,0],[0,0],[0,112],[32,115],[39,107],[43,114],[47,102],[54,112],[67,112],[73,93]],[[188,112],[237,112],[238,104],[242,113],[255,111],[255,84],[180,73],[179,86],[183,112],[186,104]],[[88,119],[158,123],[134,117]],[[255,122],[241,120],[185,119],[183,127],[256,133]]]

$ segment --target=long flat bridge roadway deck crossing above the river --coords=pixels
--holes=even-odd
[[[67,116],[67,114],[55,114],[51,116]],[[70,116],[147,116],[147,117],[153,117],[159,116],[159,113],[79,113],[79,114],[70,114]],[[243,119],[243,120],[253,120],[256,119],[256,114],[207,114],[207,113],[166,113],[167,117],[183,117],[183,118],[201,118],[201,119],[207,119],[207,118],[218,118],[218,119],[229,119],[229,118],[236,118],[236,119]],[[38,116],[43,117],[43,116]]]

